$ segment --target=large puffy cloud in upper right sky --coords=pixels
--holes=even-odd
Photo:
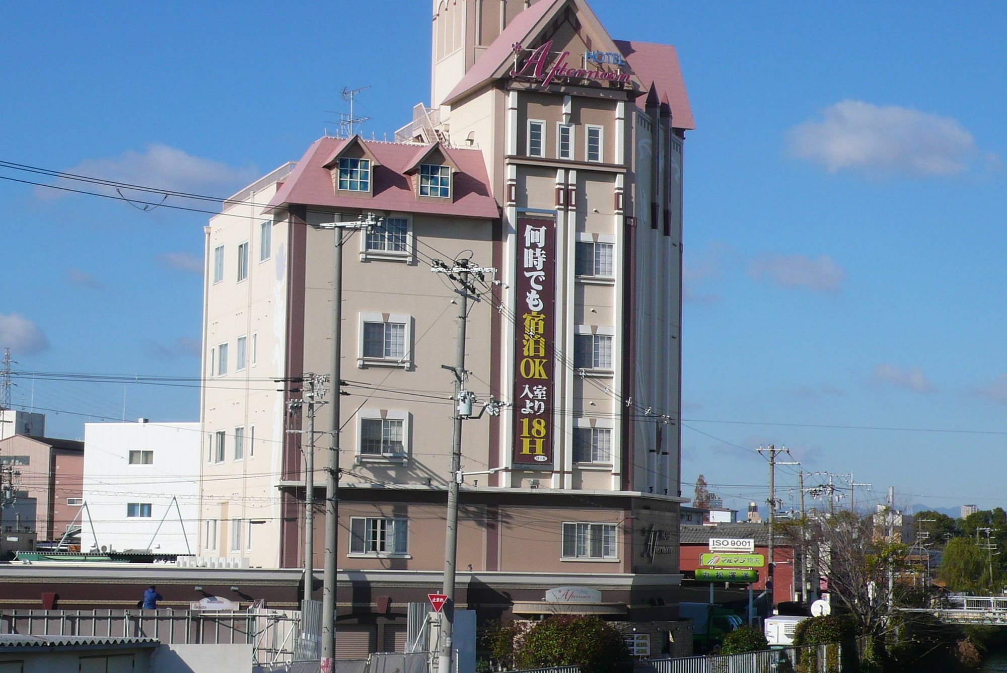
[[[820,121],[790,129],[786,144],[790,155],[833,173],[951,175],[979,155],[972,134],[951,117],[863,101],[826,108]]]

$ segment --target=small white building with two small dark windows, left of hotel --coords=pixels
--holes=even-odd
[[[199,423],[87,423],[84,443],[82,549],[195,553]]]

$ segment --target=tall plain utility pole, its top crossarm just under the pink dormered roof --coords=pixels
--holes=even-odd
[[[369,215],[355,222],[326,222],[315,225],[331,230],[334,236],[332,260],[332,415],[329,450],[325,465],[325,567],[321,590],[321,673],[335,670],[335,566],[339,529],[339,405],[342,395],[342,230],[370,230],[378,220]]]

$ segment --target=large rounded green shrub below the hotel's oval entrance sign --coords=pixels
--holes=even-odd
[[[550,617],[515,646],[517,668],[580,667],[581,673],[630,673],[632,657],[622,635],[596,617]]]

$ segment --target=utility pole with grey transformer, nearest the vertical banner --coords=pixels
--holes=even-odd
[[[495,269],[473,267],[468,260],[455,260],[452,266],[435,260],[431,269],[434,273],[443,273],[454,281],[458,287],[455,293],[458,299],[458,332],[455,344],[454,367],[442,366],[454,372],[455,410],[452,417],[451,433],[451,475],[447,485],[447,516],[444,535],[444,582],[441,593],[447,596],[440,613],[439,648],[437,655],[438,673],[451,673],[451,661],[454,656],[452,632],[454,626],[454,580],[455,565],[458,555],[458,488],[461,483],[461,424],[472,415],[472,404],[475,396],[465,390],[467,374],[465,372],[465,321],[468,318],[468,299],[479,300],[475,287],[469,281],[471,274],[495,273]],[[481,414],[480,414],[481,415]]]

